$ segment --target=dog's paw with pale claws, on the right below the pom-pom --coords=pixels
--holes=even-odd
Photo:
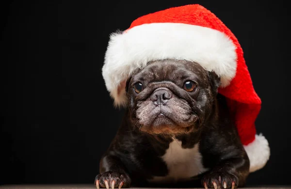
[[[205,175],[201,182],[205,189],[234,189],[239,185],[238,177],[227,172],[211,172]]]

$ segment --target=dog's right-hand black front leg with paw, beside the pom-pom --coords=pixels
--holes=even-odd
[[[205,189],[226,189],[243,187],[249,174],[249,159],[243,157],[222,159],[208,174],[202,178]]]

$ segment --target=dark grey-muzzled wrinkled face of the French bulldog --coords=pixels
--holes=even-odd
[[[193,132],[211,114],[219,85],[219,78],[198,63],[148,63],[127,81],[132,124],[150,134]]]

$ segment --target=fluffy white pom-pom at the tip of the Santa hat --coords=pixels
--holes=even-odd
[[[251,173],[263,168],[269,160],[269,143],[262,134],[256,135],[255,141],[248,145],[244,145],[244,149],[250,160]]]

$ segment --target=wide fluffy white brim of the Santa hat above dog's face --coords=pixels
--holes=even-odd
[[[222,87],[235,76],[236,46],[225,33],[182,23],[151,23],[111,34],[102,75],[114,104],[125,105],[120,83],[149,61],[188,60],[221,77]]]

